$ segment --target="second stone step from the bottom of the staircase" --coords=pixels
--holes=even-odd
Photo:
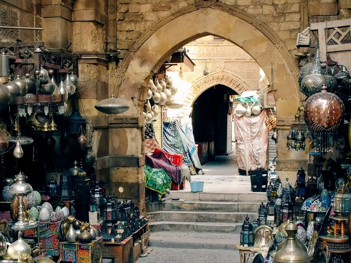
[[[231,232],[240,234],[243,223],[224,222],[184,222],[184,221],[159,221],[149,222],[151,232],[158,231],[183,231],[183,232]],[[209,235],[210,237],[210,235]]]

